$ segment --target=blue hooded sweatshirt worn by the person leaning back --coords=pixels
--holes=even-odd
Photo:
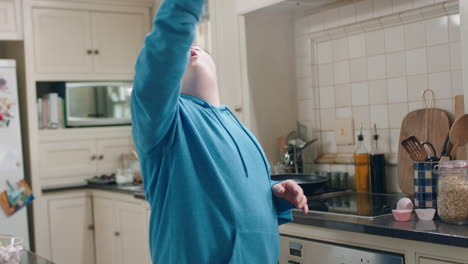
[[[153,263],[262,263],[279,258],[292,206],[226,106],[181,95],[204,0],[165,0],[136,64],[133,138],[151,206]]]

